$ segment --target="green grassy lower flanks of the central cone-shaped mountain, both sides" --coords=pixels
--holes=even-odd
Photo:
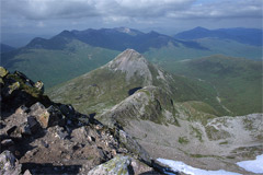
[[[168,82],[157,79],[158,71],[149,66],[153,81],[152,84],[165,90],[171,90],[170,97],[176,102],[199,101],[209,104],[217,110],[216,115],[226,115],[219,103],[216,101],[214,88],[198,80],[181,75],[168,75]],[[167,84],[168,83],[168,84]],[[99,68],[66,83],[54,86],[48,95],[60,103],[72,104],[78,110],[84,114],[101,113],[105,108],[119,103],[128,97],[130,89],[144,86],[144,78],[134,77],[126,81],[125,73],[110,71],[107,68]],[[172,103],[172,102],[171,102]],[[206,106],[205,106],[206,108]],[[206,110],[206,109],[202,109]]]

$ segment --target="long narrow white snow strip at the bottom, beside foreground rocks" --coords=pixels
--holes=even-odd
[[[190,174],[190,175],[222,175],[222,174],[224,175],[241,175],[239,173],[227,172],[224,170],[206,171],[206,170],[202,170],[202,168],[196,168],[196,167],[186,165],[185,163],[180,162],[180,161],[164,160],[164,159],[160,159],[160,158],[157,159],[157,161],[170,166],[175,172],[182,172],[182,173]]]

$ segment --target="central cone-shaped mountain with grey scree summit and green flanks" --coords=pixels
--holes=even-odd
[[[172,106],[173,101],[202,101],[218,109],[218,115],[226,114],[216,101],[213,86],[171,75],[134,49],[125,50],[99,69],[53,88],[48,94],[54,101],[72,104],[84,114],[101,114],[146,86],[158,86],[155,91],[161,89],[167,96],[171,96],[165,102],[169,102],[168,106]]]

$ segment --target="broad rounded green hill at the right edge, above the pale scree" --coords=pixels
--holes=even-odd
[[[174,73],[203,79],[218,91],[221,103],[235,115],[262,113],[262,62],[225,56],[162,66]]]

